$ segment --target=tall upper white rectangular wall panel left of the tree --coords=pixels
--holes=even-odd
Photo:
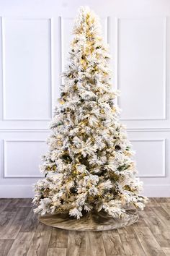
[[[51,117],[49,19],[2,18],[4,120]]]

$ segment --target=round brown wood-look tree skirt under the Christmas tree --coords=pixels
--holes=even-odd
[[[129,226],[138,221],[138,211],[136,209],[127,209],[125,218],[113,218],[104,211],[86,213],[83,217],[73,218],[68,213],[58,213],[53,215],[39,216],[40,222],[48,226],[54,226],[59,229],[76,231],[104,231],[120,229]]]

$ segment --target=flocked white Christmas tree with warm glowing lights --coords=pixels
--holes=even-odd
[[[140,195],[134,152],[119,121],[108,46],[88,7],[81,7],[73,34],[48,153],[40,166],[45,178],[35,184],[35,213],[68,212],[81,218],[104,210],[122,218],[125,206],[143,209],[147,198]]]

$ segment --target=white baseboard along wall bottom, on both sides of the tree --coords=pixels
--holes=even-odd
[[[143,193],[146,197],[170,197],[170,184],[144,185]],[[34,197],[32,185],[0,185],[0,198],[28,198]]]

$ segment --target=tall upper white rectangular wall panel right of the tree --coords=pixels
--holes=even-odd
[[[166,119],[166,18],[118,20],[118,88],[122,119]]]

